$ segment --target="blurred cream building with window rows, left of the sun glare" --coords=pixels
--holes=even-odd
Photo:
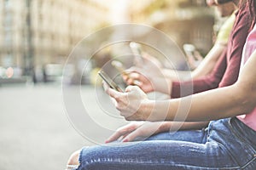
[[[63,63],[108,8],[86,0],[0,0],[0,65],[31,69]],[[93,17],[91,17],[93,15]]]

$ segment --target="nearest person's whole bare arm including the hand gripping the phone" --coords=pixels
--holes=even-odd
[[[256,106],[256,51],[247,60],[234,85],[180,99],[150,100],[137,86],[125,93],[107,88],[116,108],[129,121],[206,122],[247,114]]]

